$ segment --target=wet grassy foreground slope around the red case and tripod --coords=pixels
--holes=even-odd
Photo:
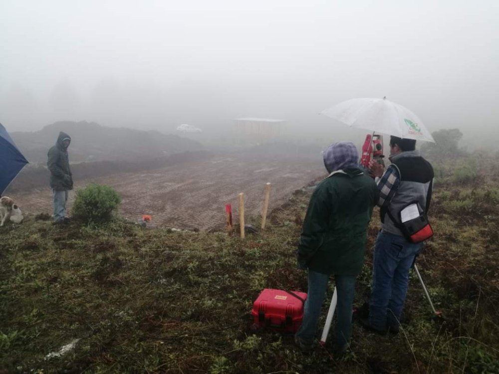
[[[309,198],[303,191],[272,212],[264,233],[246,240],[224,233],[144,229],[120,220],[94,228],[76,223],[55,227],[31,217],[0,229],[0,369],[498,371],[499,165],[480,165],[479,183],[462,185],[456,182],[466,178],[452,182],[447,166],[439,167],[432,207],[437,235],[418,259],[445,324],[432,321],[411,274],[409,321],[403,332],[379,337],[355,324],[351,352],[341,361],[332,358],[329,345],[302,354],[292,336],[252,331],[251,305],[261,289],[306,291],[306,276],[296,269],[294,255]],[[368,248],[378,222],[373,217]],[[371,259],[368,249],[357,285],[358,304],[370,282]],[[331,293],[332,285],[328,299]],[[79,339],[73,351],[45,360],[73,339]]]

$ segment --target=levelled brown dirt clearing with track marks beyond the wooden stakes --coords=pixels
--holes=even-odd
[[[123,173],[75,181],[81,188],[90,182],[106,184],[122,196],[121,213],[136,221],[152,216],[151,226],[209,230],[225,224],[225,204],[233,206],[238,223],[239,193],[245,193],[247,216],[261,214],[265,183],[272,184],[269,211],[296,189],[325,174],[322,160],[305,158],[264,159],[216,157],[143,173]],[[75,192],[70,191],[69,211]],[[51,213],[50,189],[18,192],[14,197],[24,213]]]

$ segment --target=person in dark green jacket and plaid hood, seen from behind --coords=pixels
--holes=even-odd
[[[352,325],[355,280],[364,262],[367,225],[376,204],[376,184],[358,168],[353,143],[335,143],[324,151],[330,173],[310,198],[298,245],[298,265],[308,269],[308,295],[303,323],[295,342],[311,350],[329,275],[337,290],[334,350],[348,347]]]

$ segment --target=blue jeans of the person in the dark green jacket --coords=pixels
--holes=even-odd
[[[336,304],[336,334],[334,344],[348,344],[352,332],[352,303],[355,293],[355,275],[335,275],[338,303]],[[329,275],[308,271],[308,294],[305,300],[303,322],[296,335],[304,342],[312,343],[317,329],[320,310],[326,295]]]

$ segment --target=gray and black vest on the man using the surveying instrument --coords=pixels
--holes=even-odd
[[[414,202],[418,202],[423,211],[428,211],[431,200],[431,191],[428,191],[434,177],[433,168],[420,156],[419,151],[399,153],[391,161],[399,172],[400,186],[390,204],[380,210],[381,229],[404,236],[386,212],[389,210],[395,219],[400,219],[400,210]]]

